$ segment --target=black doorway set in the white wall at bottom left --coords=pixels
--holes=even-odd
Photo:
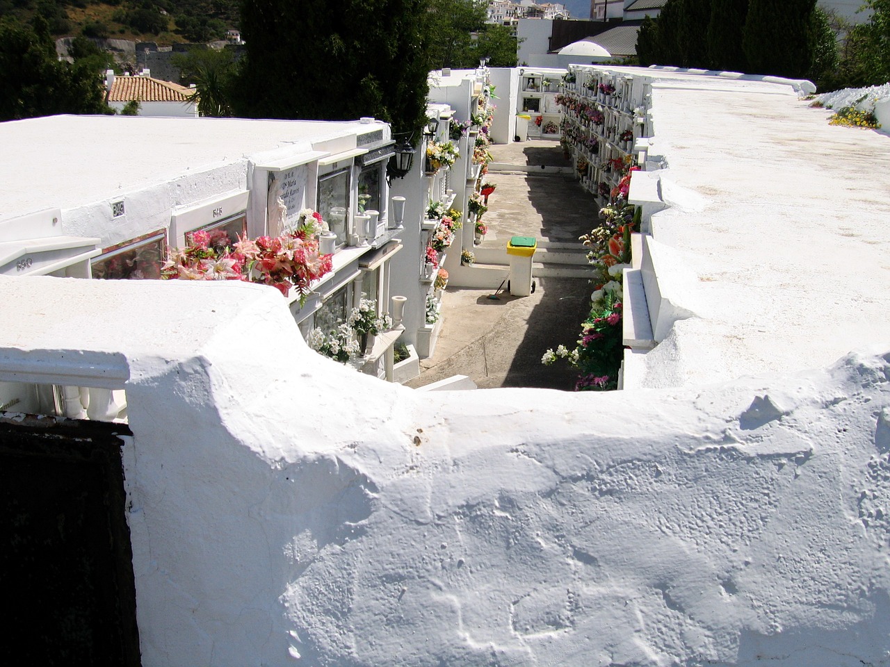
[[[0,415],[0,662],[140,664],[122,435]]]

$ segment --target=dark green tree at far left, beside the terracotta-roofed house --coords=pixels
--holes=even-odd
[[[47,22],[0,20],[0,121],[53,114],[105,113],[101,60],[56,58]]]

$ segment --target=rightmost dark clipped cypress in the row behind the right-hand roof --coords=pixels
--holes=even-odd
[[[806,76],[813,62],[810,15],[816,0],[750,0],[741,46],[756,74]]]

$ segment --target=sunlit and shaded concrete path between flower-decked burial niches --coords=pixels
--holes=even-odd
[[[594,198],[570,174],[538,172],[540,165],[567,166],[558,142],[517,142],[493,146],[491,152],[496,163],[515,168],[492,171],[485,179],[498,189],[484,216],[490,227],[484,245],[503,247],[517,235],[578,243],[592,228],[598,213]],[[420,387],[464,374],[482,389],[572,390],[575,368],[565,362],[544,366],[541,356],[560,343],[574,347],[592,287],[585,278],[537,277],[536,283],[530,296],[502,292],[497,300],[489,298],[494,290],[449,288],[433,356],[421,360],[420,376],[406,384]]]

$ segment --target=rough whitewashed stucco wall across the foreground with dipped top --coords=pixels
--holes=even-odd
[[[890,355],[433,398],[261,286],[2,282],[26,356],[129,368],[146,665],[890,664]]]

